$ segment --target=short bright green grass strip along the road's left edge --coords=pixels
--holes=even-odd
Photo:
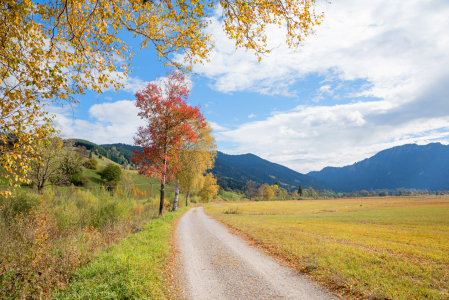
[[[187,208],[149,222],[141,232],[97,254],[56,299],[167,299],[164,268],[174,221]]]

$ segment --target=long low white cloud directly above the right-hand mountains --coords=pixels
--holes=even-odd
[[[397,145],[449,138],[449,116],[397,123],[396,109],[387,101],[298,107],[217,138],[238,144],[229,153],[254,153],[302,173],[352,164]]]

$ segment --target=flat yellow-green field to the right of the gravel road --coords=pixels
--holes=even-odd
[[[225,203],[206,212],[350,298],[449,299],[449,198],[360,201]]]

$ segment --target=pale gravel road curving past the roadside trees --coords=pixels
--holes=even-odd
[[[339,299],[248,246],[202,207],[180,219],[176,234],[187,299]]]

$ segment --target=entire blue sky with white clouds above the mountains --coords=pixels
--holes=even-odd
[[[268,28],[276,49],[260,63],[236,51],[212,17],[216,47],[210,63],[193,67],[189,103],[201,105],[218,150],[307,173],[397,145],[447,144],[449,2],[337,0],[318,9],[323,24],[296,51],[280,46],[282,28]],[[88,92],[73,111],[50,108],[66,137],[133,142],[142,124],[134,93],[167,69],[153,49],[123,38],[136,51],[124,90]]]

